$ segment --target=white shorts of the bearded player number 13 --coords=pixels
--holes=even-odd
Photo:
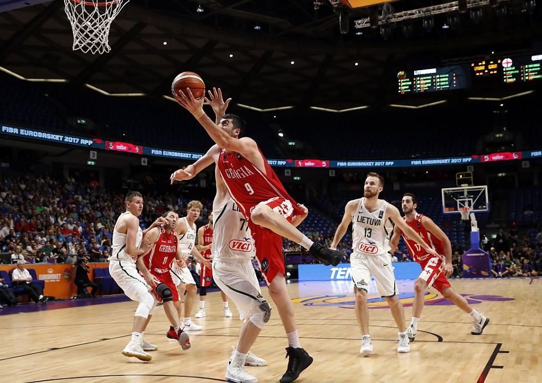
[[[375,277],[378,294],[391,297],[399,294],[389,254],[366,255],[353,252],[350,256],[352,282],[356,289],[368,291],[371,275]]]

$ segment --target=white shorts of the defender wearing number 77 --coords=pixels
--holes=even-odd
[[[248,319],[266,302],[250,259],[241,263],[213,261],[212,275],[217,286],[234,301],[241,320]]]

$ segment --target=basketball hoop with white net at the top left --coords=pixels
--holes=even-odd
[[[73,50],[92,54],[109,52],[109,27],[129,1],[64,0],[64,10],[72,24]]]

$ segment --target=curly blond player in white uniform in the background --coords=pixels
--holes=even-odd
[[[186,207],[186,217],[179,218],[175,232],[179,236],[180,251],[182,251],[186,256],[193,255],[199,262],[202,262],[205,266],[210,268],[211,263],[201,254],[199,254],[199,251],[195,245],[197,236],[197,226],[195,222],[199,218],[199,213],[201,212],[202,207],[203,205],[201,202],[190,201]],[[186,290],[186,297],[184,298],[183,329],[185,331],[201,330],[202,326],[198,326],[190,319],[190,315],[192,314],[192,306],[198,289],[196,287],[196,281],[194,281],[194,278],[186,266],[186,263],[183,261],[172,263],[171,277],[179,292],[179,301],[175,302],[177,312],[179,313],[179,319],[181,317],[180,315],[182,314],[182,304],[180,300],[183,299],[184,291]],[[173,334],[170,333],[171,331],[175,332],[175,329],[173,329],[172,326],[170,326],[166,336],[175,339]]]

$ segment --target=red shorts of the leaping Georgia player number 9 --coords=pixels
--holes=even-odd
[[[282,197],[271,198],[258,205],[269,206],[274,212],[285,217],[288,222],[292,222],[294,219],[292,203]],[[253,224],[250,220],[249,227],[254,238],[256,258],[260,263],[262,275],[266,278],[267,283],[270,284],[277,274],[286,275],[284,255],[282,252],[282,237],[267,228]]]

